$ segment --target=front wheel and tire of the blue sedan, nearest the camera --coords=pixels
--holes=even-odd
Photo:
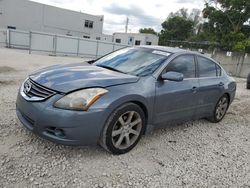
[[[132,150],[145,130],[145,114],[134,103],[116,109],[107,120],[100,145],[107,151],[119,155]]]

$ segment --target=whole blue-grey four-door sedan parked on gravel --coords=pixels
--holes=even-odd
[[[118,50],[92,65],[55,65],[20,87],[16,112],[35,134],[65,145],[99,144],[113,154],[159,127],[206,118],[219,122],[235,80],[213,59],[177,48]]]

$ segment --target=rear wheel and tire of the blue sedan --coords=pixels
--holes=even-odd
[[[213,116],[209,117],[208,120],[213,123],[220,122],[226,115],[227,109],[229,107],[229,98],[224,94],[216,103],[213,111]]]

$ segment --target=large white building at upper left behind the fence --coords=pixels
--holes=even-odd
[[[112,41],[102,35],[104,16],[57,8],[28,0],[0,0],[0,28],[41,31]]]

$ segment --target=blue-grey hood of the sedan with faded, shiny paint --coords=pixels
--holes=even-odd
[[[137,82],[139,77],[83,63],[54,65],[41,69],[30,78],[36,83],[67,93],[89,87],[108,87]]]

